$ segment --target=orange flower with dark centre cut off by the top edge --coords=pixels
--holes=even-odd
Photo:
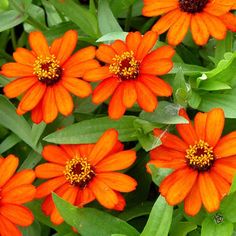
[[[230,14],[233,4],[235,0],[144,0],[143,15],[163,15],[152,30],[159,34],[168,30],[171,45],[181,43],[189,28],[195,43],[204,45],[210,35],[218,40],[225,38],[229,25],[227,17],[222,20],[221,16]]]

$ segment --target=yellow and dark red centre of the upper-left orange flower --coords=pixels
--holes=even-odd
[[[54,55],[46,58],[38,56],[34,62],[34,74],[40,82],[53,85],[60,80],[62,69]]]

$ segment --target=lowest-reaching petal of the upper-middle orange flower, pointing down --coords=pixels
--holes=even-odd
[[[122,102],[124,86],[121,83],[114,91],[108,107],[108,114],[111,119],[120,119],[125,113],[125,106]]]

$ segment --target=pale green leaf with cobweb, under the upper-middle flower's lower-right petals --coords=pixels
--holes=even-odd
[[[159,102],[158,107],[154,112],[140,113],[140,118],[146,121],[161,123],[161,124],[187,124],[188,121],[179,116],[180,106],[170,102]]]

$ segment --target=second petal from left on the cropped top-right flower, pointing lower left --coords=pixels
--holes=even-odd
[[[164,33],[180,18],[181,13],[179,9],[166,13],[153,25],[152,30],[159,34]]]

